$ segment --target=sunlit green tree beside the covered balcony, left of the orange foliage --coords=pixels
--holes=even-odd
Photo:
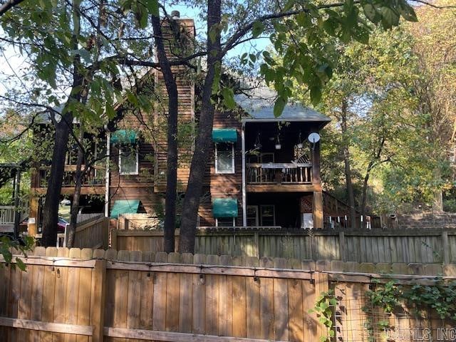
[[[412,37],[402,28],[374,30],[368,45],[331,40],[336,64],[317,106],[333,118],[323,133],[325,186],[351,202],[346,186],[351,180],[354,202],[361,211],[366,209],[370,187],[386,195],[382,180],[393,165],[401,164],[400,155],[410,152],[403,150],[403,144],[419,140],[421,133],[415,128],[417,101],[411,89],[419,77]],[[310,103],[309,94],[298,83],[296,87],[296,98]]]

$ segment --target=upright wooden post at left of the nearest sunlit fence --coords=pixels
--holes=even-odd
[[[92,271],[92,291],[90,303],[90,318],[93,326],[93,342],[103,342],[105,327],[105,292],[106,289],[106,260],[95,261]]]

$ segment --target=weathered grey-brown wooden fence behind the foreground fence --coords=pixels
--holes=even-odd
[[[176,239],[179,230],[176,231]],[[162,251],[163,232],[114,230],[113,248]],[[178,245],[178,244],[176,244]],[[456,229],[337,232],[335,230],[199,230],[195,252],[248,257],[358,262],[455,263]]]

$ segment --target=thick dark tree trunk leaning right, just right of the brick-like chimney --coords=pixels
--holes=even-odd
[[[212,125],[214,123],[214,105],[211,102],[212,85],[218,82],[220,72],[220,23],[221,1],[207,1],[207,73],[202,91],[202,108],[199,116],[195,152],[190,166],[190,177],[182,204],[182,221],[180,224],[179,252],[195,252],[195,234],[197,226],[199,199],[202,195],[204,170],[212,144]],[[214,33],[214,34],[213,34]],[[212,37],[212,38],[210,38]]]

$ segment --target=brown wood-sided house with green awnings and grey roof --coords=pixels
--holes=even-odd
[[[193,20],[175,19],[186,33],[187,43],[191,42]],[[179,89],[180,124],[195,127],[195,84],[189,81],[187,68],[173,67],[173,72]],[[164,92],[162,75],[157,71],[150,75],[155,90]],[[323,228],[320,144],[324,141],[309,141],[309,135],[318,133],[330,119],[293,103],[275,118],[274,96],[268,88],[258,88],[236,96],[238,110],[215,114],[199,227]],[[153,113],[125,112],[110,129],[100,131],[93,153],[105,153],[109,158],[90,166],[81,192],[81,212],[104,214],[111,218],[111,227],[123,227],[125,217],[133,227],[160,227],[166,189],[166,139],[150,128],[165,126],[160,125],[165,110],[165,106],[156,106]],[[192,139],[188,140],[187,146],[180,146],[177,173],[181,193],[185,193],[194,148]],[[76,147],[68,151],[62,188],[62,196],[70,201],[75,153]],[[37,165],[32,172],[28,224],[32,235],[39,231],[47,169],[46,165]],[[345,219],[347,214],[337,212]]]

